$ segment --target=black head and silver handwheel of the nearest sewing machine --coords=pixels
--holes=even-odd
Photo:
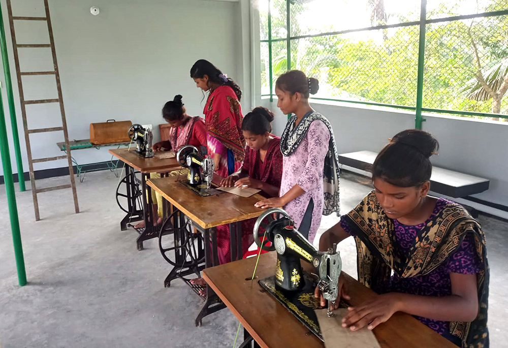
[[[315,274],[312,274],[317,278],[317,286],[323,297],[329,303],[335,303],[342,268],[336,245],[325,252],[317,250],[293,226],[289,214],[280,208],[268,209],[261,214],[256,220],[253,233],[260,248],[277,251],[276,288],[284,291],[302,289],[305,279],[300,260],[305,260],[314,266]]]

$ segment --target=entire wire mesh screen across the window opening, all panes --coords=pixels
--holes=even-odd
[[[263,1],[275,80],[288,70],[287,2]],[[416,108],[421,0],[289,1],[291,69],[320,80],[315,97]],[[428,0],[426,16],[424,111],[508,115],[508,2]]]

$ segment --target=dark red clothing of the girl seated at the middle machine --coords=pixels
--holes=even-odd
[[[282,153],[280,152],[280,138],[275,137],[270,142],[270,147],[266,152],[265,162],[261,162],[259,151],[253,151],[249,147],[245,150],[245,160],[242,169],[253,179],[258,179],[269,183],[275,187],[280,187],[282,178]],[[261,192],[263,196],[269,197]],[[254,242],[252,230],[257,218],[242,221],[242,255],[248,250]],[[217,251],[219,263],[221,265],[231,261],[230,234],[229,225],[217,226]]]

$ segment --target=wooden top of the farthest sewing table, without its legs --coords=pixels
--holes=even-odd
[[[180,168],[180,165],[176,162],[176,158],[159,159],[157,157],[150,157],[147,159],[138,155],[135,149],[111,149],[109,153],[117,157],[120,161],[139,170],[141,173],[169,172]]]

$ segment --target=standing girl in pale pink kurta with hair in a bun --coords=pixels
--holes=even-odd
[[[323,214],[339,213],[339,168],[333,131],[328,120],[309,105],[319,82],[298,70],[277,79],[277,106],[294,114],[280,139],[283,171],[280,197],[260,201],[262,208],[283,206],[298,231],[314,240]]]

